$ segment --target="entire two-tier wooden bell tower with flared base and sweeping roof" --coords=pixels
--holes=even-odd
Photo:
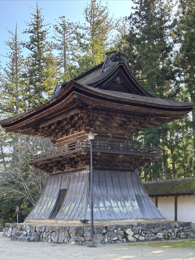
[[[8,132],[48,137],[55,149],[29,164],[49,174],[27,221],[90,220],[90,144],[93,143],[94,221],[165,220],[148,197],[135,169],[156,158],[156,148],[129,144],[129,137],[185,117],[194,104],[156,98],[136,81],[126,55],[57,84],[51,100],[0,124]]]

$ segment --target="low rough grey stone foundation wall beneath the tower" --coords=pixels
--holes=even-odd
[[[90,226],[30,226],[5,223],[3,236],[17,241],[90,245]],[[191,222],[94,226],[94,244],[192,238]]]

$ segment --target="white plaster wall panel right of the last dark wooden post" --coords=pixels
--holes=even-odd
[[[193,195],[177,197],[177,220],[195,223],[195,198]]]

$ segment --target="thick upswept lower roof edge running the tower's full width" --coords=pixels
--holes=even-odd
[[[104,100],[105,102],[111,102],[121,104],[121,105],[128,105],[128,106],[136,106],[140,108],[151,108],[154,110],[176,110],[178,112],[190,112],[194,107],[195,103],[189,102],[179,102],[179,101],[172,101],[166,100],[161,98],[153,98],[153,97],[144,97],[135,94],[128,94],[116,91],[104,91],[101,89],[97,89],[94,87],[90,87],[87,85],[82,85],[74,80],[70,80],[66,87],[57,94],[53,99],[47,101],[46,103],[38,106],[35,109],[32,109],[28,112],[20,114],[18,116],[13,116],[7,119],[3,119],[0,121],[2,127],[8,127],[9,124],[15,125],[18,121],[23,120],[23,122],[27,119],[30,119],[34,116],[44,116],[47,114],[47,110],[51,111],[55,109],[55,106],[59,105],[59,103],[67,102],[70,96],[73,98],[73,94],[84,94],[91,98],[95,98],[97,100]],[[154,102],[155,101],[155,102]],[[158,101],[158,102],[157,102]],[[164,104],[163,104],[164,103]],[[161,109],[159,109],[161,108]],[[5,128],[4,127],[4,128]]]

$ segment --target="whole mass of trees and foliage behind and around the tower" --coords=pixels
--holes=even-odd
[[[91,0],[85,23],[59,17],[44,24],[36,5],[27,40],[9,30],[8,62],[0,67],[1,118],[41,105],[57,82],[68,81],[104,61],[105,52],[121,49],[129,56],[134,76],[151,94],[195,102],[195,4],[193,0],[133,0],[132,13],[114,20],[108,5]],[[176,10],[177,12],[173,12]],[[49,38],[53,30],[54,36]],[[29,51],[23,57],[23,48]],[[57,51],[57,52],[56,52]],[[55,55],[54,55],[55,54]],[[195,111],[184,119],[133,134],[131,144],[158,147],[161,159],[138,169],[142,180],[195,176]],[[5,133],[0,129],[0,221],[19,221],[36,203],[46,173],[27,165],[30,156],[52,149],[48,139]]]

